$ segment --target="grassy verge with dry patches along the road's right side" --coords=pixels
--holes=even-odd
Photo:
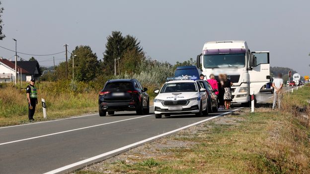
[[[75,173],[310,174],[309,91],[285,95],[281,110],[246,108]]]

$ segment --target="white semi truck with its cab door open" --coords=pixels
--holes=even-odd
[[[270,82],[269,51],[251,52],[245,41],[215,41],[204,44],[197,65],[209,79],[227,74],[233,83],[233,102],[250,105],[250,94],[258,94]]]

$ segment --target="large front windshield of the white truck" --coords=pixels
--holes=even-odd
[[[245,54],[206,54],[203,56],[204,68],[222,68],[245,66]]]

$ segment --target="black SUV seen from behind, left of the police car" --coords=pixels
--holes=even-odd
[[[99,93],[100,117],[114,115],[114,111],[136,111],[138,115],[149,114],[150,100],[137,79],[108,80]]]

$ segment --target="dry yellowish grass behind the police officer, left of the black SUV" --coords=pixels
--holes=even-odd
[[[27,86],[27,85],[25,85]],[[38,105],[34,115],[35,120],[42,121],[43,110],[41,98],[47,106],[47,120],[65,118],[83,113],[97,112],[97,91],[62,92],[50,91],[38,85]],[[26,89],[16,87],[0,88],[0,126],[18,125],[28,122]]]

